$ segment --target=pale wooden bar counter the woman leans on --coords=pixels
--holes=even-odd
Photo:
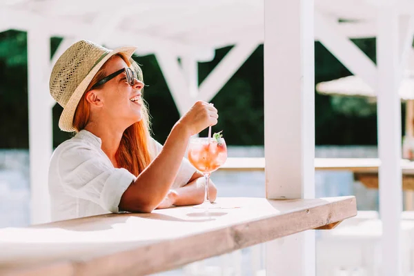
[[[355,197],[219,198],[150,214],[108,214],[0,229],[0,275],[148,275],[357,214]]]

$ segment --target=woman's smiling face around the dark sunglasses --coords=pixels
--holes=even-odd
[[[103,71],[106,77],[122,68],[128,68],[126,62],[121,57],[114,56],[105,63]],[[134,85],[130,86],[126,79],[126,72],[122,72],[90,92],[95,92],[97,97],[100,97],[99,113],[108,123],[112,121],[119,126],[128,127],[142,119],[143,87],[144,83],[137,79]]]

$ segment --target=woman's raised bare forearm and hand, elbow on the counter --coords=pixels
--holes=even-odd
[[[214,126],[217,118],[217,109],[209,103],[197,101],[172,128],[159,155],[126,189],[119,207],[146,213],[157,208],[177,176],[190,136]]]

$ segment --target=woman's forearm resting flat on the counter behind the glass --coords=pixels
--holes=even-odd
[[[199,177],[184,187],[176,188],[177,197],[175,199],[175,206],[187,206],[201,204],[204,201],[204,184],[206,180],[204,177]],[[210,195],[210,202],[215,201],[217,197],[217,188],[210,181],[208,184],[208,190]]]

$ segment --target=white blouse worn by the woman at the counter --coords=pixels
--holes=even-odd
[[[161,144],[151,139],[156,157]],[[168,170],[168,168],[166,168]],[[196,169],[184,158],[172,188],[185,186]],[[87,130],[64,141],[53,152],[49,167],[52,221],[119,213],[121,196],[137,177],[115,168],[101,150],[101,139]]]

